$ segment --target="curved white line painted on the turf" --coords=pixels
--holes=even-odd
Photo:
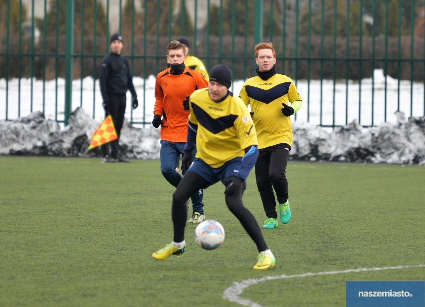
[[[261,282],[273,281],[278,279],[289,279],[289,278],[298,278],[298,277],[311,277],[318,275],[332,275],[332,274],[344,274],[344,273],[357,273],[357,272],[370,272],[370,271],[383,271],[383,270],[401,270],[401,269],[411,269],[411,268],[424,268],[425,265],[414,265],[414,266],[398,266],[398,267],[383,267],[383,268],[359,268],[359,269],[349,269],[343,271],[327,271],[327,272],[317,272],[317,273],[304,273],[298,275],[279,275],[279,276],[266,276],[262,278],[253,278],[247,279],[240,283],[233,283],[232,286],[224,290],[223,299],[230,302],[237,303],[242,306],[250,307],[266,307],[264,305],[251,302],[249,300],[242,299],[240,295],[243,290],[248,288],[251,285],[256,285]]]

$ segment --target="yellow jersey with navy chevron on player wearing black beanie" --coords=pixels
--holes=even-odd
[[[239,97],[227,92],[220,102],[210,98],[208,88],[190,96],[189,122],[198,125],[196,158],[213,168],[243,157],[245,148],[258,145],[257,135],[248,109]]]

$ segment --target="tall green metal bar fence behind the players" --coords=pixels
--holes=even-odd
[[[182,35],[207,69],[232,69],[236,94],[255,75],[255,43],[272,41],[277,71],[303,98],[295,120],[424,116],[424,10],[424,0],[2,0],[0,119],[41,111],[66,125],[77,107],[101,118],[98,73],[114,32],[143,106],[127,110],[134,125],[150,124],[155,76]]]

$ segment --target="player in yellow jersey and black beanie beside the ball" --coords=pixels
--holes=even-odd
[[[228,90],[230,84],[230,69],[222,64],[216,65],[210,71],[208,88],[196,90],[189,98],[191,113],[183,165],[191,164],[195,147],[197,153],[173,194],[173,242],[152,254],[155,259],[166,260],[172,255],[185,253],[185,202],[193,192],[221,181],[225,186],[227,208],[242,224],[260,253],[253,269],[266,270],[276,263],[258,223],[242,203],[246,177],[258,156],[257,136],[246,106]]]

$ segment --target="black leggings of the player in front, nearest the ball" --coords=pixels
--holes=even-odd
[[[210,182],[195,172],[188,171],[185,176],[183,176],[176,191],[173,193],[173,202],[171,204],[174,242],[182,242],[185,240],[185,227],[186,220],[188,218],[186,201],[192,193],[199,189],[206,189],[210,185]],[[239,220],[246,233],[254,241],[258,251],[263,252],[267,250],[267,245],[254,216],[246,207],[243,206],[242,194],[243,191],[240,191],[240,193],[235,197],[225,196],[227,208]]]

